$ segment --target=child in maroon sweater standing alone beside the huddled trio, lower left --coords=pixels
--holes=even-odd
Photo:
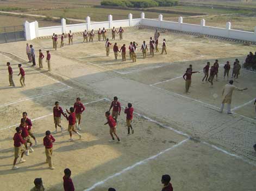
[[[51,135],[51,131],[47,130],[45,132],[45,137],[43,138],[43,146],[45,146],[46,163],[49,164],[49,169],[54,169],[52,166],[52,152],[53,152],[53,142],[55,142],[54,137]]]

